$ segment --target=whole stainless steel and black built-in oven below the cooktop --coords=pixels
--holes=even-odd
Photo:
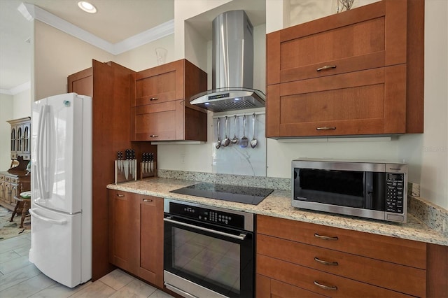
[[[254,215],[165,199],[165,271],[183,297],[253,297]]]

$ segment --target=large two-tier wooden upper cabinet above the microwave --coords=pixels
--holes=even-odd
[[[383,0],[267,34],[267,137],[423,132],[423,17]]]

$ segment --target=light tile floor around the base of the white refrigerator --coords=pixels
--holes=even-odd
[[[120,269],[99,280],[67,288],[28,261],[31,234],[0,241],[0,297],[172,297]]]

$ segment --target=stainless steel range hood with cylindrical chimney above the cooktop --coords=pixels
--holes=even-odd
[[[253,26],[244,10],[231,10],[213,21],[212,88],[190,104],[214,112],[265,106],[265,94],[253,89]]]

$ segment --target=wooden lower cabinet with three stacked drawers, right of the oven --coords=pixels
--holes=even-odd
[[[448,294],[445,246],[258,215],[256,247],[256,297]]]

